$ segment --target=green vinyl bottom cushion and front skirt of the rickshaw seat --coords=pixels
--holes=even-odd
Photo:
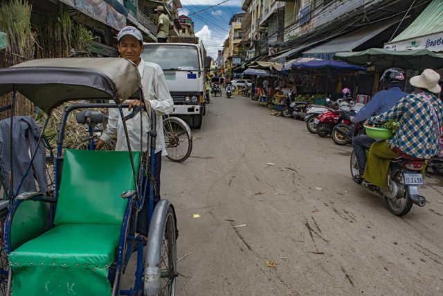
[[[14,295],[111,295],[121,225],[64,224],[9,255]]]

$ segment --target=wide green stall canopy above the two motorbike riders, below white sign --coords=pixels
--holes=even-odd
[[[409,70],[443,68],[443,55],[427,49],[410,51],[389,51],[387,49],[367,49],[354,53],[336,53],[334,60],[342,60],[352,64],[372,65],[377,70],[399,67]]]

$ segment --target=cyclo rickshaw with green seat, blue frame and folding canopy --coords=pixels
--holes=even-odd
[[[30,60],[0,69],[0,96],[9,93],[11,103],[1,110],[10,111],[11,124],[17,93],[47,114],[39,143],[55,107],[66,101],[81,102],[67,107],[62,116],[52,196],[45,192],[18,195],[31,174],[36,151],[30,151],[30,164],[21,180],[13,180],[16,164],[11,158],[4,229],[9,263],[6,295],[174,295],[178,234],[174,207],[168,200],[154,207],[153,199],[155,112],[148,112],[150,130],[141,132],[150,150],[146,156],[132,151],[126,127],[140,107],[126,116],[123,111],[126,99],[143,100],[136,65],[123,58]],[[104,100],[114,103],[96,103]],[[69,113],[86,110],[81,113],[85,121],[100,121],[100,114],[87,111],[99,107],[117,108],[128,151],[95,151],[93,137],[87,150],[64,149]],[[142,126],[143,116],[138,117]],[[11,155],[14,149],[10,147]],[[135,232],[145,202],[147,241]],[[134,284],[123,290],[120,282],[133,253]]]

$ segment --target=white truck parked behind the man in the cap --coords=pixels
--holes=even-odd
[[[205,114],[205,79],[208,62],[203,44],[145,43],[143,60],[159,64],[165,73],[174,112],[200,128]],[[210,64],[209,64],[210,67]]]

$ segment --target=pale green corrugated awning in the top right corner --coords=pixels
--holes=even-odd
[[[390,43],[443,32],[443,1],[433,0],[408,28]]]

